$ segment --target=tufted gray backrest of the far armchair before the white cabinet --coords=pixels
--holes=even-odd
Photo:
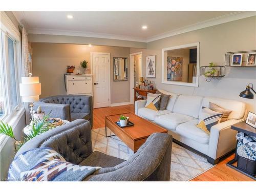
[[[41,102],[70,105],[71,113],[88,113],[91,109],[90,96],[58,95],[40,99]]]

